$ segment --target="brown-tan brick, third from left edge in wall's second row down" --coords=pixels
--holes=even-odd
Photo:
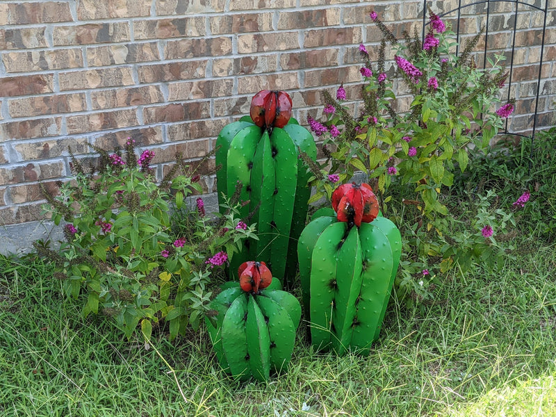
[[[133,22],[136,40],[180,38],[181,36],[206,35],[204,17],[179,19],[136,20]]]

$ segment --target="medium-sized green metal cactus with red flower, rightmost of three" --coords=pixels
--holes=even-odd
[[[377,198],[366,183],[336,188],[332,207],[336,213],[313,216],[297,246],[311,343],[337,354],[368,353],[400,263],[400,231],[378,217]]]

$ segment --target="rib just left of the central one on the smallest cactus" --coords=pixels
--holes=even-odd
[[[247,334],[245,333],[245,313],[247,312],[247,294],[237,297],[231,303],[222,321],[222,348],[229,364],[231,375],[241,380],[249,379],[251,370],[247,352]]]

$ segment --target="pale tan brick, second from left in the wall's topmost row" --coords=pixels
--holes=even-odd
[[[80,0],[77,4],[79,20],[138,17],[151,14],[151,0]]]

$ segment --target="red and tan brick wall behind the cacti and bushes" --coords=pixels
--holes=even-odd
[[[550,1],[541,126],[556,124]],[[430,3],[441,12],[456,1]],[[2,1],[0,227],[42,218],[38,182],[67,179],[68,146],[84,155],[88,144],[113,147],[134,138],[155,149],[160,177],[176,151],[192,160],[210,151],[222,126],[248,113],[250,97],[263,88],[288,90],[302,123],[308,113],[320,116],[323,87],[343,82],[348,97],[357,97],[359,43],[373,54],[380,40],[368,18],[373,9],[397,34],[420,30],[420,0]],[[462,33],[477,31],[480,12],[468,10]],[[491,20],[500,51],[509,40],[506,13],[500,6]],[[519,19],[516,43],[525,47],[516,51],[523,82],[515,93],[522,100],[512,123],[526,131],[539,17]],[[204,181],[205,192],[213,192],[214,179]]]

